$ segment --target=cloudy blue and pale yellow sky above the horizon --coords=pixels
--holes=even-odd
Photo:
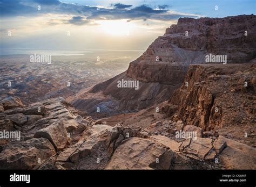
[[[0,48],[145,50],[181,17],[255,15],[255,8],[255,0],[0,0]]]

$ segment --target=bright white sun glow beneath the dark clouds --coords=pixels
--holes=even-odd
[[[100,20],[98,23],[100,24],[100,28],[104,33],[114,36],[128,36],[134,28],[133,23],[131,23],[131,21],[127,21],[126,19]]]

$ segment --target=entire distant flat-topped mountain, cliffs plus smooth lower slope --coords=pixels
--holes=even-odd
[[[187,31],[187,34],[186,34]],[[247,35],[245,35],[245,31]],[[227,63],[247,63],[256,56],[256,16],[180,18],[167,28],[127,72],[68,98],[90,114],[141,110],[170,98],[190,64],[205,63],[207,54],[227,55]],[[139,90],[118,88],[117,81],[138,80]],[[98,113],[99,114],[99,113]]]

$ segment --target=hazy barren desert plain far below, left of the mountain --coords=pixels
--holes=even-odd
[[[57,96],[66,98],[123,72],[140,53],[96,51],[52,56],[51,64],[30,62],[29,55],[1,55],[0,98],[15,95],[25,104]]]

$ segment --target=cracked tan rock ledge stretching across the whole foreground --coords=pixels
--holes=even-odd
[[[16,113],[41,117],[19,125],[18,119],[9,119]],[[21,132],[20,140],[1,139],[1,169],[256,168],[254,147],[220,135],[206,137],[201,128],[183,121],[159,121],[144,129],[109,126],[80,117],[61,97],[4,110],[1,120],[8,121],[9,131]],[[179,130],[197,131],[198,136],[177,138],[173,134]]]

